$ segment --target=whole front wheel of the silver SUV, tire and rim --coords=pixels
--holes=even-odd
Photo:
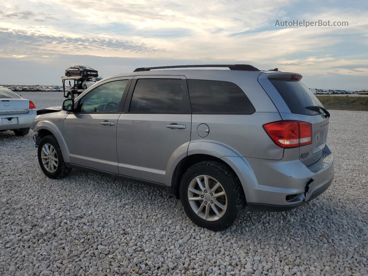
[[[38,145],[38,163],[43,173],[50,178],[63,178],[71,170],[65,165],[59,143],[54,135],[41,139]]]

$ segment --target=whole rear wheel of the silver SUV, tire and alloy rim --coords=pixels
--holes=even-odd
[[[199,162],[184,173],[180,200],[195,224],[213,231],[230,227],[245,208],[237,176],[225,164],[215,161]]]

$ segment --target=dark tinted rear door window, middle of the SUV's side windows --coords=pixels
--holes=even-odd
[[[180,113],[185,82],[182,79],[138,79],[130,112]]]

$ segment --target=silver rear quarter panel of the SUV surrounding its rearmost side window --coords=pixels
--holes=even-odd
[[[195,71],[195,72],[194,72]],[[231,70],[191,70],[188,79],[229,81],[238,85],[247,95],[256,112],[253,114],[192,114],[192,133],[188,155],[206,148],[207,154],[243,156],[270,160],[283,158],[283,149],[266,134],[262,125],[281,120],[280,114],[262,86],[258,83],[260,72]],[[212,72],[213,71],[213,72]],[[209,134],[202,138],[198,125],[209,126]],[[207,143],[208,147],[203,144]]]

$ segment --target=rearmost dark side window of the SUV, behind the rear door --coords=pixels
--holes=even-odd
[[[188,79],[193,113],[253,114],[254,106],[244,91],[233,82]]]

